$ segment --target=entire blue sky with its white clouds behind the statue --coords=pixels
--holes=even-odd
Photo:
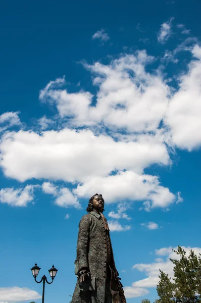
[[[70,300],[78,224],[106,201],[129,303],[201,252],[200,2],[2,2],[0,302]],[[49,278],[49,277],[48,277]]]

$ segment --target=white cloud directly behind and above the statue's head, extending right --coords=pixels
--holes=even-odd
[[[175,201],[175,195],[168,188],[160,185],[158,177],[139,175],[132,171],[119,172],[107,177],[93,177],[78,185],[75,193],[79,196],[90,196],[96,188],[102,192],[108,203],[121,199],[148,200],[146,210],[151,208],[166,208]]]

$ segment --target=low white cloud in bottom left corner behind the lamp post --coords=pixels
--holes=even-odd
[[[0,299],[6,302],[21,302],[27,300],[40,299],[41,295],[27,287],[0,287]]]

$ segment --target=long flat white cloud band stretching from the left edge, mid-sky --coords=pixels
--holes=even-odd
[[[84,182],[96,176],[96,169],[100,177],[123,169],[142,173],[151,164],[168,165],[170,161],[163,138],[158,135],[115,141],[106,134],[67,128],[41,135],[22,130],[7,132],[0,149],[5,175],[20,181],[48,178]],[[19,161],[22,155],[23,161]]]

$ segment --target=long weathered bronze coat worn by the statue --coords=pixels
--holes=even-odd
[[[113,251],[111,265],[118,276]],[[82,269],[87,269],[90,272],[91,290],[95,295],[92,295],[91,300],[88,300],[85,292],[80,291],[77,283],[71,303],[104,303],[107,274],[107,238],[104,222],[96,212],[90,212],[83,216],[79,224],[75,274],[78,274]]]

